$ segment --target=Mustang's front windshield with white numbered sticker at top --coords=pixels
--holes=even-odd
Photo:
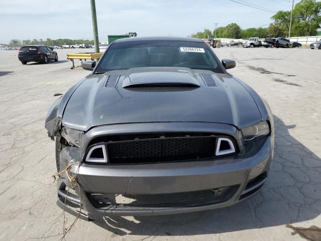
[[[186,67],[224,73],[205,43],[189,41],[133,41],[114,43],[95,72],[137,67]]]

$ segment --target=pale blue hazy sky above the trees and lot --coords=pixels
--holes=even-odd
[[[236,0],[272,11],[290,10],[290,0]],[[295,0],[294,3],[297,3]],[[229,23],[241,28],[271,23],[273,13],[230,0],[96,0],[99,41],[108,34],[188,36]],[[93,39],[89,0],[0,0],[0,43],[11,39]]]

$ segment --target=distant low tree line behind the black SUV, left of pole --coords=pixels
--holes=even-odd
[[[93,40],[83,40],[83,39],[33,39],[33,40],[19,40],[19,39],[12,39],[9,44],[0,44],[3,46],[9,47],[21,47],[25,45],[36,45],[36,44],[44,44],[48,46],[55,46],[55,45],[74,45],[74,44],[94,44]]]

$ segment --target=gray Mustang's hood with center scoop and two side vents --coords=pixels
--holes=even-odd
[[[63,125],[92,127],[147,122],[225,123],[243,128],[261,121],[243,85],[228,74],[189,68],[132,68],[89,75],[70,97]]]

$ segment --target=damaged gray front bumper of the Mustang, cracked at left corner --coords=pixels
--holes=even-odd
[[[167,215],[203,211],[230,206],[259,191],[266,181],[273,157],[273,136],[248,144],[246,152],[236,157],[207,161],[160,163],[144,165],[73,165],[80,189],[76,194],[67,193],[69,181],[65,175],[58,179],[57,204],[67,212],[77,215],[81,205],[81,218],[100,219],[103,216]],[[60,156],[61,168],[81,161],[78,148],[65,148]],[[216,195],[221,190],[222,196]],[[172,196],[186,198],[190,194],[206,191],[212,197],[171,203]],[[219,191],[220,192],[220,191]],[[102,194],[110,205],[101,207],[91,195]],[[146,200],[159,198],[158,203],[144,205],[117,203],[114,197],[143,196]],[[81,200],[80,197],[81,196]],[[162,200],[162,198],[165,200]],[[138,204],[137,204],[138,203]],[[76,207],[76,208],[75,208]]]

